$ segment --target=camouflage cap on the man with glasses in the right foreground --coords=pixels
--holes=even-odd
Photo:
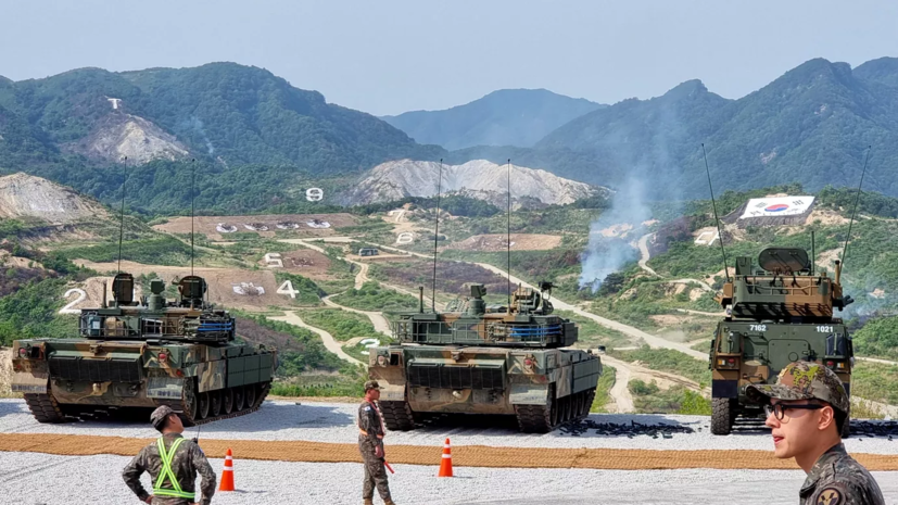
[[[749,400],[766,403],[777,400],[820,400],[848,414],[851,404],[835,371],[819,363],[793,362],[786,365],[775,384],[751,384],[745,394]]]

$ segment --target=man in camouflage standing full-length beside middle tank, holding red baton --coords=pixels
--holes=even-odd
[[[383,468],[383,416],[377,401],[380,400],[380,384],[376,380],[365,382],[365,401],[358,407],[358,451],[365,465],[365,480],[362,498],[365,505],[374,505],[375,485],[384,505],[395,505],[387,484]]]

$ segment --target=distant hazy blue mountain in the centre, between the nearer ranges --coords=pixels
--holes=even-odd
[[[529,148],[555,128],[603,106],[545,89],[501,89],[443,111],[381,118],[420,143],[451,150],[472,146]]]

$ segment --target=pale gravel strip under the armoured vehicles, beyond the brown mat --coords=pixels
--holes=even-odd
[[[225,440],[306,440],[313,442],[355,443],[355,404],[307,403],[268,401],[254,414],[213,422],[202,427],[200,438]],[[596,422],[630,425],[675,424],[695,430],[693,433],[674,433],[672,438],[653,439],[648,435],[608,437],[594,431],[579,437],[558,430],[547,434],[522,434],[514,419],[489,418],[463,419],[461,427],[454,425],[431,426],[409,432],[390,432],[389,444],[440,446],[448,437],[453,445],[490,445],[514,447],[607,447],[648,450],[772,450],[770,434],[766,430],[739,431],[729,437],[710,433],[710,418],[703,416],[667,416],[632,414],[593,414]],[[699,431],[700,429],[700,431]],[[195,428],[187,435],[193,437]],[[7,433],[67,433],[135,438],[155,438],[156,431],[149,424],[86,421],[66,425],[40,425],[21,400],[0,400],[0,432]],[[852,453],[898,454],[898,438],[852,437],[845,441]]]

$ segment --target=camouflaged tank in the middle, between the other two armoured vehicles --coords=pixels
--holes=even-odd
[[[372,348],[368,375],[382,387],[391,430],[410,430],[427,413],[517,416],[520,430],[548,432],[582,419],[602,362],[577,342],[577,326],[553,315],[552,285],[518,288],[511,306],[488,307],[483,285],[457,311],[401,314],[396,342]]]

